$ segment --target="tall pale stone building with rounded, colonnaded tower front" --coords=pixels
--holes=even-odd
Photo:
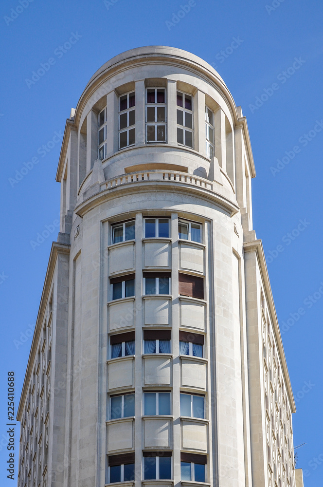
[[[303,486],[254,176],[199,57],[142,47],[92,76],[57,169],[18,486]]]

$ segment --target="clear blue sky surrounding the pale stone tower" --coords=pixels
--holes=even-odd
[[[178,17],[181,5],[187,3],[1,2],[0,479],[4,487],[13,485],[6,478],[3,446],[6,373],[16,372],[18,407],[30,330],[58,232],[60,188],[55,174],[65,120],[102,64],[128,49],[155,44],[185,49],[213,64],[247,116],[257,171],[252,181],[254,228],[263,241],[277,315],[285,330],[283,343],[297,407],[294,444],[305,443],[297,450],[297,467],[306,470],[306,487],[322,485],[323,4],[191,0],[190,11]],[[61,50],[70,37],[74,44]],[[49,58],[52,64],[47,65]],[[33,71],[41,63],[47,71],[28,81],[33,81]],[[39,245],[31,244],[45,230],[48,237]],[[309,391],[305,393],[304,387]],[[17,447],[18,441],[17,428]],[[18,469],[16,478],[17,474]]]

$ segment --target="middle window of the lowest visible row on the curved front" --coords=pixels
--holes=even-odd
[[[171,451],[144,451],[144,480],[172,478]]]

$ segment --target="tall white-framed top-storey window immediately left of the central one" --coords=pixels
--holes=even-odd
[[[136,138],[135,92],[119,97],[119,149],[132,146]]]

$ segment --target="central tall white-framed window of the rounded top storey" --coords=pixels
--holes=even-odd
[[[147,88],[146,141],[166,141],[165,88]]]

